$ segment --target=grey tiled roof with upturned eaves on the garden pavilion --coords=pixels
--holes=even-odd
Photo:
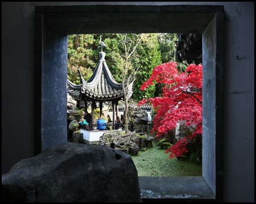
[[[84,100],[85,98],[98,101],[121,99],[123,96],[122,83],[117,83],[115,81],[104,58],[105,53],[100,52],[100,61],[98,62],[93,75],[87,82],[82,77],[80,70],[77,70],[79,72],[81,84],[69,85],[69,95],[72,95],[72,97],[75,96],[74,99],[76,100]],[[68,81],[68,84],[70,83],[71,82]],[[131,90],[133,83],[128,86],[126,81],[125,84],[128,97],[130,97],[133,93]]]

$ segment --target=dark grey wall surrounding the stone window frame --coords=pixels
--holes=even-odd
[[[34,156],[35,6],[86,4],[92,2],[2,2],[2,174],[20,159]],[[224,201],[254,201],[254,3],[94,4],[225,6]]]

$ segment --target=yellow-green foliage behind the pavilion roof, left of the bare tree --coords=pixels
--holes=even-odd
[[[103,50],[106,53],[106,63],[115,80],[119,83],[122,82],[120,73],[111,57],[112,52],[120,52],[118,48],[119,35],[105,33],[68,36],[68,79],[71,82],[80,84],[77,69],[80,69],[86,81],[92,76],[100,59],[100,35],[106,44],[106,48]]]

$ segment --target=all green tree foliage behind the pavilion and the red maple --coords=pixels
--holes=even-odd
[[[84,79],[87,81],[96,69],[97,63],[100,59],[99,53],[101,52],[101,41],[105,42],[106,48],[103,52],[106,53],[105,59],[112,73],[114,79],[118,83],[122,83],[122,68],[119,67],[120,63],[114,61],[113,55],[121,56],[125,53],[122,46],[121,34],[110,33],[97,33],[92,35],[69,35],[68,36],[68,79],[71,82],[80,84],[77,69]],[[128,34],[130,44],[136,40],[136,34]],[[162,94],[162,84],[156,83],[146,91],[140,91],[142,83],[150,78],[152,70],[155,66],[169,61],[175,60],[175,40],[177,35],[172,33],[144,33],[143,38],[138,45],[134,58],[130,61],[129,70],[134,67],[139,67],[136,80],[134,81],[134,94],[133,99],[141,100],[143,97],[154,97]],[[177,62],[177,61],[176,61]],[[185,71],[187,65],[185,63],[177,62],[177,69]]]

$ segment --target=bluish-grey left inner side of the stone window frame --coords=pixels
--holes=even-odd
[[[56,25],[46,22],[42,46],[42,150],[67,142],[68,134],[68,36],[56,32]]]

